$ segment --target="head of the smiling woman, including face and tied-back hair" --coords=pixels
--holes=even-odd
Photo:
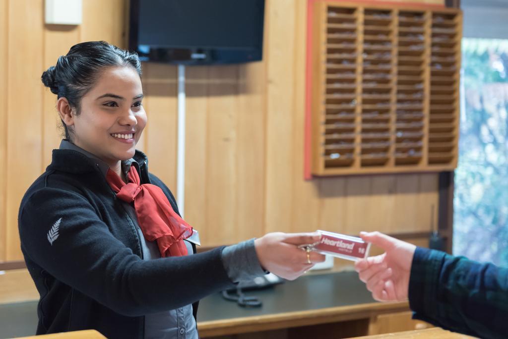
[[[73,46],[42,75],[57,94],[66,139],[105,161],[118,176],[118,160],[134,156],[146,125],[140,76],[135,54],[95,42]]]

